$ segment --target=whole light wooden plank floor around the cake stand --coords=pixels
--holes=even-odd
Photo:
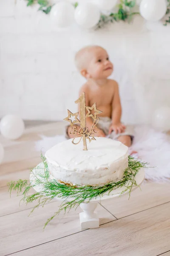
[[[0,137],[5,159],[0,165],[0,256],[170,256],[170,184],[143,184],[128,196],[98,204],[99,229],[81,230],[79,212],[59,214],[42,231],[56,211],[53,201],[36,209],[8,194],[7,182],[28,179],[29,169],[40,163],[34,150],[39,134],[62,134],[62,124],[50,123],[26,129],[10,142]]]

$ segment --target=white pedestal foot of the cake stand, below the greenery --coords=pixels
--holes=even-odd
[[[99,218],[94,210],[97,207],[97,203],[82,203],[80,204],[83,212],[79,213],[81,229],[97,228],[99,227]]]

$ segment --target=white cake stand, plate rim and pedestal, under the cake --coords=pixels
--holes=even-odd
[[[34,184],[34,179],[35,179],[34,175],[36,175],[37,167],[40,168],[40,169],[38,169],[38,172],[41,172],[42,175],[44,173],[44,164],[43,163],[38,164],[36,166],[36,168],[33,169],[33,171],[32,171],[33,173],[31,173],[31,175],[30,175],[30,181],[31,181],[32,184]],[[143,180],[144,180],[144,169],[139,170],[139,172],[135,176],[135,180],[136,180],[137,186],[134,186],[132,188],[131,192],[134,191],[135,189],[137,189],[139,187],[139,185],[143,182]],[[125,186],[122,186],[121,188],[114,189],[113,192],[111,192],[109,195],[107,195],[108,192],[106,192],[102,195],[102,197],[97,196],[96,198],[91,199],[91,201],[89,203],[87,203],[86,202],[87,200],[86,200],[86,201],[84,201],[84,203],[80,204],[80,207],[83,210],[83,212],[79,213],[81,229],[99,227],[99,218],[97,217],[96,212],[94,212],[94,210],[97,207],[97,203],[101,202],[102,200],[107,200],[107,199],[110,199],[110,198],[115,198],[117,196],[127,194],[128,191],[122,194],[122,192],[125,190],[125,188],[126,188]],[[37,192],[41,192],[42,191],[42,186],[40,186],[40,185],[34,186],[34,189]],[[58,197],[55,197],[54,199],[56,199],[58,201],[64,201],[65,200],[63,198],[58,198]],[[68,202],[72,201],[72,200],[73,200],[73,198],[71,198],[71,197],[67,198]]]

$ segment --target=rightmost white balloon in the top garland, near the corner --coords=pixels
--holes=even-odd
[[[145,20],[158,21],[167,11],[166,0],[142,0],[140,14]]]

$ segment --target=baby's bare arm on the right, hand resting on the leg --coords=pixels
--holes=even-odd
[[[119,87],[116,81],[114,81],[114,93],[112,101],[112,124],[109,128],[109,134],[112,131],[117,133],[122,133],[125,131],[125,125],[121,123],[122,107],[119,97]]]

